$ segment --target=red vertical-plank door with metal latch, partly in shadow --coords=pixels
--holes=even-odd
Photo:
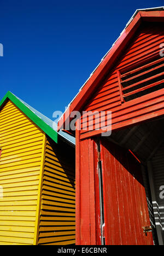
[[[127,150],[101,140],[106,245],[153,245],[139,161]]]

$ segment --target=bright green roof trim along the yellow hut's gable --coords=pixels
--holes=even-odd
[[[0,108],[3,106],[6,100],[12,101],[28,118],[30,118],[42,131],[46,133],[53,141],[57,143],[58,133],[52,129],[48,124],[46,124],[42,119],[40,119],[35,113],[32,112],[24,103],[22,103],[14,94],[10,91],[3,97],[0,101]]]

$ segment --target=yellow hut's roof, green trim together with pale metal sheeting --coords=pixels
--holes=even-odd
[[[30,105],[22,101],[10,91],[8,91],[0,101],[0,108],[4,106],[4,103],[7,100],[13,102],[25,115],[27,115],[28,118],[30,118],[42,131],[46,133],[46,135],[48,135],[56,143],[58,141],[59,135],[68,143],[71,143],[73,146],[75,145],[75,138],[73,136],[63,131],[57,132],[57,125],[55,127],[55,123],[51,119],[45,117],[45,115],[32,108]]]

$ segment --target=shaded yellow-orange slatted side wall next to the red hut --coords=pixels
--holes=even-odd
[[[39,245],[75,244],[75,154],[47,139]]]

